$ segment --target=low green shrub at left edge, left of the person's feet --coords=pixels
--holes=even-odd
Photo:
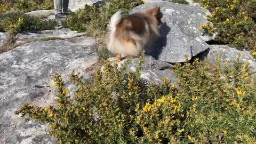
[[[57,26],[55,20],[39,20],[20,12],[0,14],[0,31],[6,32],[15,29],[17,32],[25,30],[54,29]]]

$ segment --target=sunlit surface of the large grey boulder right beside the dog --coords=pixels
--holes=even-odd
[[[207,22],[205,15],[210,14],[209,11],[193,5],[156,1],[137,6],[130,13],[153,6],[161,7],[164,23],[159,27],[162,37],[146,50],[148,54],[174,63],[185,61],[185,54],[191,59],[208,49],[205,41],[211,41],[214,36],[204,35],[199,26]]]

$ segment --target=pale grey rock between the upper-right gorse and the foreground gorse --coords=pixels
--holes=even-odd
[[[223,61],[236,60],[240,54],[240,60],[243,62],[249,62],[251,66],[252,73],[256,73],[256,59],[252,57],[249,51],[240,51],[236,48],[229,47],[227,45],[209,45],[209,53],[207,53],[207,59],[211,62],[215,61],[217,55]]]

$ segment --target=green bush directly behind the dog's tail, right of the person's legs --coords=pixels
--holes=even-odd
[[[102,35],[109,19],[119,9],[122,9],[124,13],[129,13],[133,7],[143,3],[141,0],[110,0],[100,7],[85,5],[82,10],[70,12],[70,17],[66,22],[62,22],[62,25],[71,30],[87,31],[91,35],[95,33]]]

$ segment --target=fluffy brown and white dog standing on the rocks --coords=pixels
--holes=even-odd
[[[145,46],[152,44],[160,35],[158,26],[163,23],[162,17],[159,7],[130,15],[123,15],[119,10],[108,23],[108,51],[115,54],[117,60],[121,60],[121,56],[138,57]]]

